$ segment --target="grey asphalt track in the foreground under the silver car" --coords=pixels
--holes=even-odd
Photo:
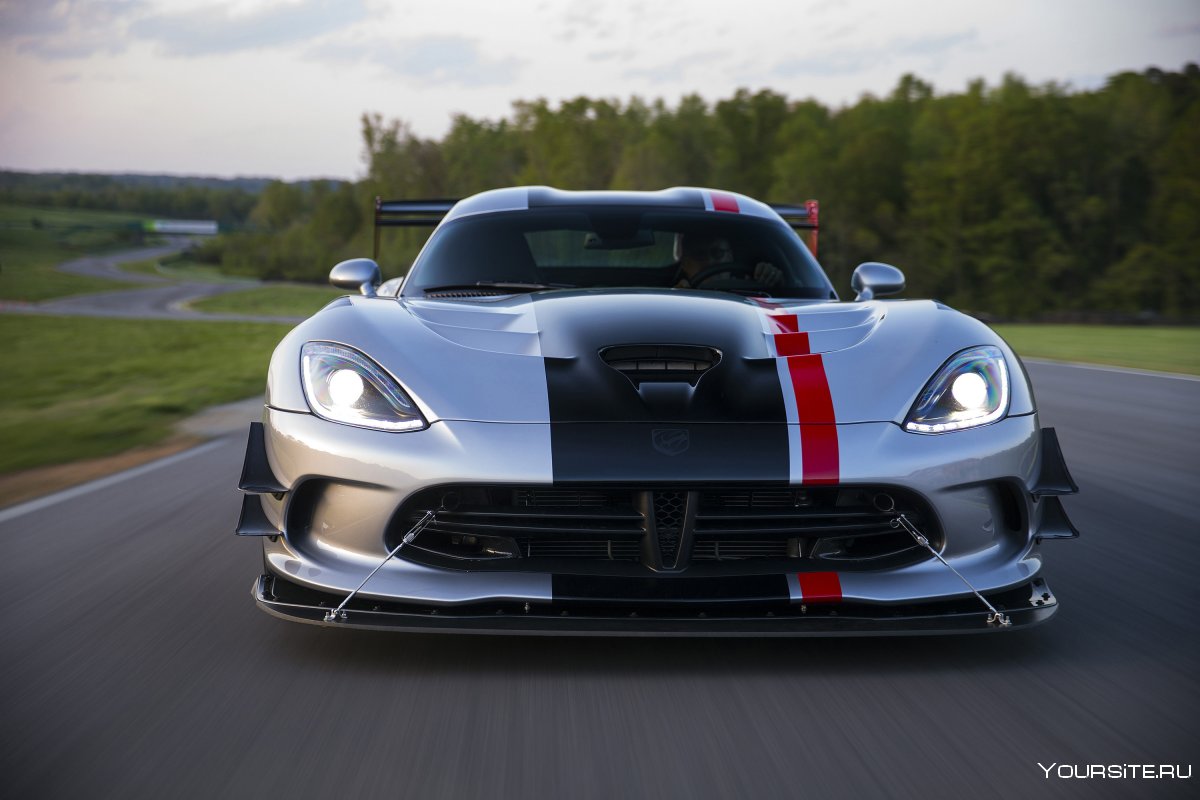
[[[1082,494],[1032,631],[552,639],[257,610],[241,435],[0,512],[10,798],[1196,796],[1200,381],[1031,366]],[[18,513],[19,512],[19,513]]]

